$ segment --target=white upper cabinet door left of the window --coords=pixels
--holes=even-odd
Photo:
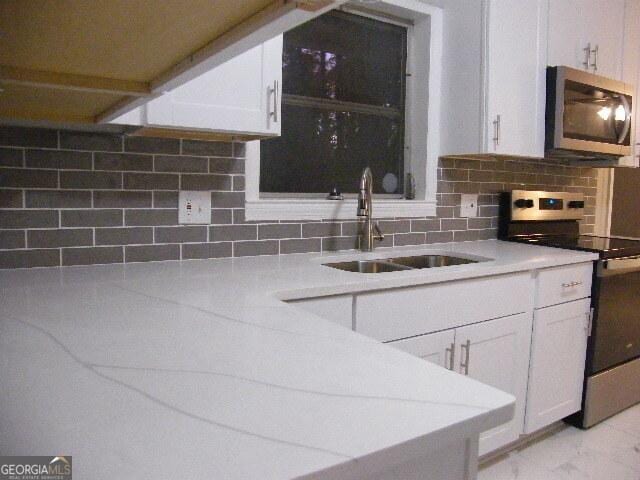
[[[279,135],[281,84],[282,35],[150,101],[146,124]]]

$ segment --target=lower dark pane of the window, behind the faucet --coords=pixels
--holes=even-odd
[[[282,136],[261,142],[261,192],[328,193],[337,186],[356,193],[369,166],[374,193],[402,193],[404,132],[398,119],[283,105],[282,121]]]

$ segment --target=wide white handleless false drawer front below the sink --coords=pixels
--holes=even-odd
[[[531,308],[529,273],[363,293],[356,331],[383,342],[505,317]]]

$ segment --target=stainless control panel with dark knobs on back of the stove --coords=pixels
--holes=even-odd
[[[573,192],[513,190],[511,220],[581,220],[584,195]]]

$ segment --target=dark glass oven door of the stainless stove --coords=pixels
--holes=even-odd
[[[640,257],[600,260],[594,296],[590,374],[640,357]]]

